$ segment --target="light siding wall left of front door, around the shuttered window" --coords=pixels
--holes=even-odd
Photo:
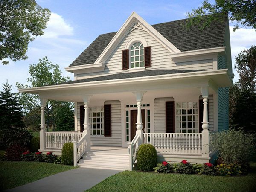
[[[105,104],[111,104],[111,137],[91,136],[91,145],[121,146],[121,102],[105,101]],[[77,128],[80,130],[80,105],[77,108]]]

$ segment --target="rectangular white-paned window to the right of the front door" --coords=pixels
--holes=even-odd
[[[198,102],[176,103],[176,132],[198,133]]]

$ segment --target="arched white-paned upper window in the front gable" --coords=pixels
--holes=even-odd
[[[144,47],[140,42],[131,46],[131,68],[144,67]]]

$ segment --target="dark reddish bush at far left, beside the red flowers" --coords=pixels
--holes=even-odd
[[[22,145],[11,145],[6,149],[6,158],[9,161],[19,161],[21,154],[28,151],[28,148]]]

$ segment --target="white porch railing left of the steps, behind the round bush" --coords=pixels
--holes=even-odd
[[[79,141],[83,133],[78,132],[45,132],[45,147],[62,149],[64,143]]]

